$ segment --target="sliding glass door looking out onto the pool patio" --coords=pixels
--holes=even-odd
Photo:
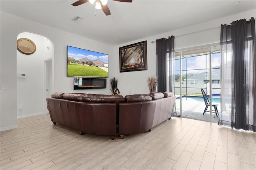
[[[211,105],[218,105],[216,109],[219,111],[220,46],[175,52],[174,72],[176,114],[191,119],[218,122],[218,113],[215,114],[215,108]],[[210,106],[207,109],[201,89],[209,100]]]

